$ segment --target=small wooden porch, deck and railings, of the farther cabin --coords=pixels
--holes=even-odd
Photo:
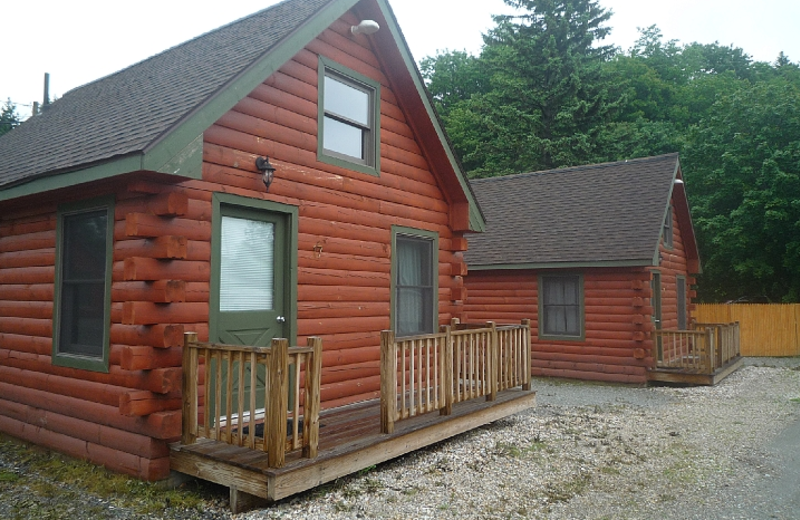
[[[658,330],[653,337],[650,381],[715,385],[742,365],[739,322],[694,323],[692,330]]]

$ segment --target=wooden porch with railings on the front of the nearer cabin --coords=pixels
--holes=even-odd
[[[250,348],[187,334],[171,468],[228,486],[234,512],[279,500],[535,406],[530,352],[527,321],[384,331],[381,398],[320,412],[318,338]]]

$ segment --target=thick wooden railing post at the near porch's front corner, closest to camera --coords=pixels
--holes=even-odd
[[[289,340],[274,338],[269,359],[269,444],[267,462],[280,468],[286,459],[286,421],[289,408]]]

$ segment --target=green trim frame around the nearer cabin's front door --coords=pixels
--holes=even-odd
[[[223,206],[243,208],[256,211],[270,212],[283,217],[286,229],[286,244],[283,255],[284,265],[284,294],[283,309],[286,317],[284,330],[290,345],[297,344],[297,257],[298,257],[298,222],[299,209],[297,206],[281,204],[261,199],[253,199],[227,193],[214,193],[212,197],[211,221],[211,285],[209,293],[209,336],[216,338],[219,330],[219,298],[220,277],[220,237],[222,232]]]

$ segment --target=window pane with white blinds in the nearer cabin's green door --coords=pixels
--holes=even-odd
[[[275,224],[222,217],[220,311],[271,310]]]

